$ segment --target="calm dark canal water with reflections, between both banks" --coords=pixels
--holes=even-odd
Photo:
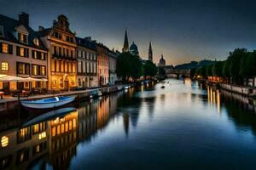
[[[0,169],[255,169],[254,105],[167,79],[49,113],[21,109],[0,119]]]

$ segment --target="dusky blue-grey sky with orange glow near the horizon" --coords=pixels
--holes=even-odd
[[[131,45],[154,62],[164,54],[168,65],[191,60],[225,59],[234,48],[256,48],[256,1],[1,0],[0,13],[30,14],[32,28],[50,27],[65,14],[78,37],[92,37],[108,48],[123,47],[125,28]]]

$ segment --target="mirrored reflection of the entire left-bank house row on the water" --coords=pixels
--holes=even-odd
[[[43,119],[36,124],[20,123],[5,130],[1,127],[0,169],[35,166],[67,169],[77,153],[77,144],[90,140],[97,130],[108,125],[116,113],[120,95],[92,100],[64,116]]]

